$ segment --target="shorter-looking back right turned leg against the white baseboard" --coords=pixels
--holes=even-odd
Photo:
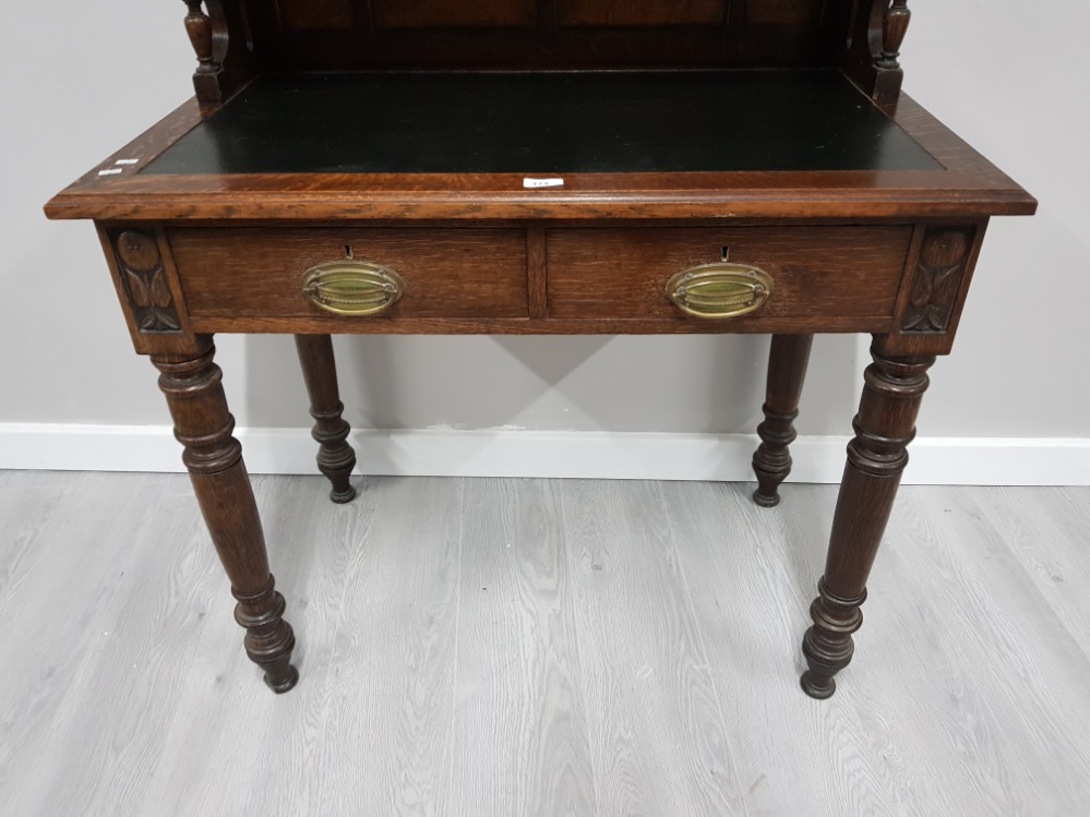
[[[796,436],[792,423],[799,416],[799,397],[813,343],[813,335],[772,335],[765,421],[757,426],[760,446],[753,455],[753,471],[757,474],[753,501],[762,507],[780,504],[780,483],[791,473],[788,446]]]

